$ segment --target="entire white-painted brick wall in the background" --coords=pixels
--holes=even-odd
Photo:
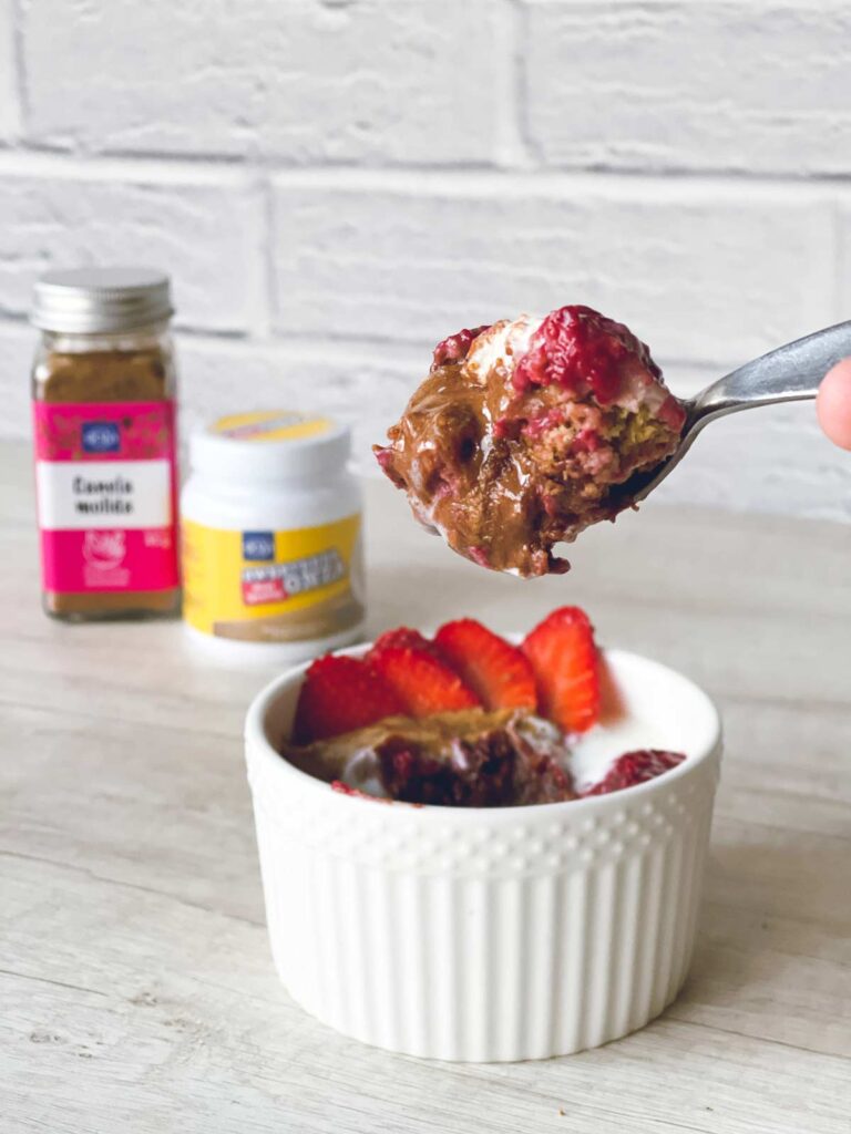
[[[184,421],[359,454],[463,324],[585,302],[679,392],[851,314],[842,0],[0,0],[0,434],[35,277],[168,269]],[[812,407],[714,425],[667,499],[851,518]]]

